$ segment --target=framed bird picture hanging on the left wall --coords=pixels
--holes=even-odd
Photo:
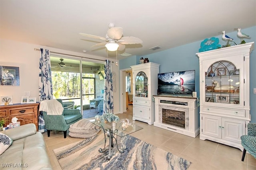
[[[20,86],[20,67],[0,65],[0,86]]]

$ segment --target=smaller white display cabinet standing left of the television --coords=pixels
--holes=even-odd
[[[153,95],[157,94],[159,64],[144,63],[131,66],[133,82],[133,120],[152,125],[155,121]]]

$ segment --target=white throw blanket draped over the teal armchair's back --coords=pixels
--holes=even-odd
[[[64,108],[56,99],[43,100],[40,102],[39,111],[47,112],[47,115],[62,115]]]

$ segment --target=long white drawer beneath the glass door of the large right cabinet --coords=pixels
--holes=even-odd
[[[209,112],[209,113],[216,113],[216,114],[222,114],[222,115],[245,117],[245,110],[224,109],[224,108],[207,107],[207,106],[203,106],[202,109],[205,113]]]

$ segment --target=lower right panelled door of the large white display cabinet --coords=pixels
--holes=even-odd
[[[222,139],[241,143],[240,137],[245,135],[245,121],[222,118]]]

